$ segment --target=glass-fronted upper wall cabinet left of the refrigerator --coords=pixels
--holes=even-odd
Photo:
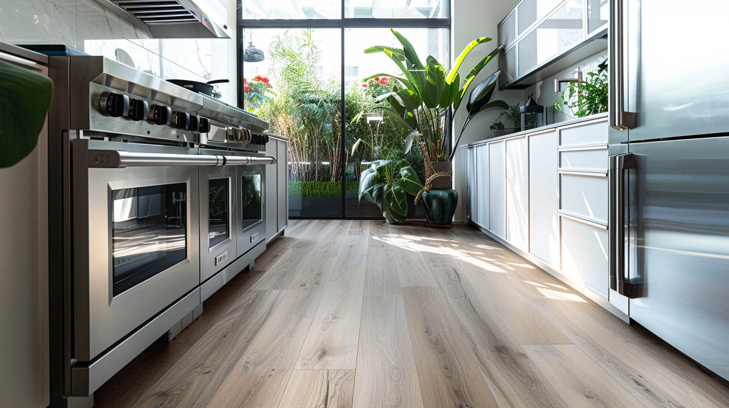
[[[499,23],[504,87],[528,87],[607,49],[607,0],[521,0]]]

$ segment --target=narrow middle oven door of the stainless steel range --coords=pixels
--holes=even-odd
[[[238,257],[235,167],[200,167],[200,283]]]

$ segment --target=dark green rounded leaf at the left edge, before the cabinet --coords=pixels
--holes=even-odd
[[[51,94],[47,76],[0,61],[0,168],[35,149]]]

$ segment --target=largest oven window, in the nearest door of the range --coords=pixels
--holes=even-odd
[[[187,184],[112,190],[113,294],[187,259]]]

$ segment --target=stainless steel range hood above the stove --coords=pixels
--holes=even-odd
[[[218,0],[98,0],[149,28],[155,38],[232,38]]]

